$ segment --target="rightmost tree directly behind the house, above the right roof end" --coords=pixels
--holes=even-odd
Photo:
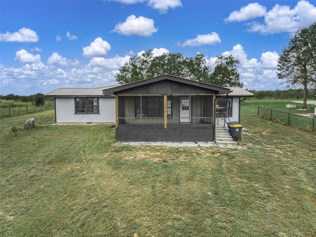
[[[209,83],[222,87],[243,87],[243,83],[239,81],[239,73],[237,65],[238,59],[235,59],[233,55],[220,55],[216,56],[215,63],[217,64],[214,68]]]

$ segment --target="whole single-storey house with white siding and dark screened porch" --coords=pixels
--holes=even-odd
[[[95,89],[57,89],[56,123],[115,122],[117,141],[213,142],[215,126],[240,121],[253,94],[168,74]]]

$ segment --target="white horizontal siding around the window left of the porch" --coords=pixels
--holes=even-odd
[[[74,97],[56,97],[56,123],[115,123],[115,98],[99,98],[99,113],[75,112]]]

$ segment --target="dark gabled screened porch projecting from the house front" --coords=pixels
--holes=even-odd
[[[116,95],[116,139],[212,142],[215,98],[229,89],[162,75],[104,90]]]

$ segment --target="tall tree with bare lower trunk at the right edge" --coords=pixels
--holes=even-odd
[[[309,86],[316,86],[316,23],[300,28],[278,59],[277,77],[287,86],[303,87],[303,108],[306,108]]]

